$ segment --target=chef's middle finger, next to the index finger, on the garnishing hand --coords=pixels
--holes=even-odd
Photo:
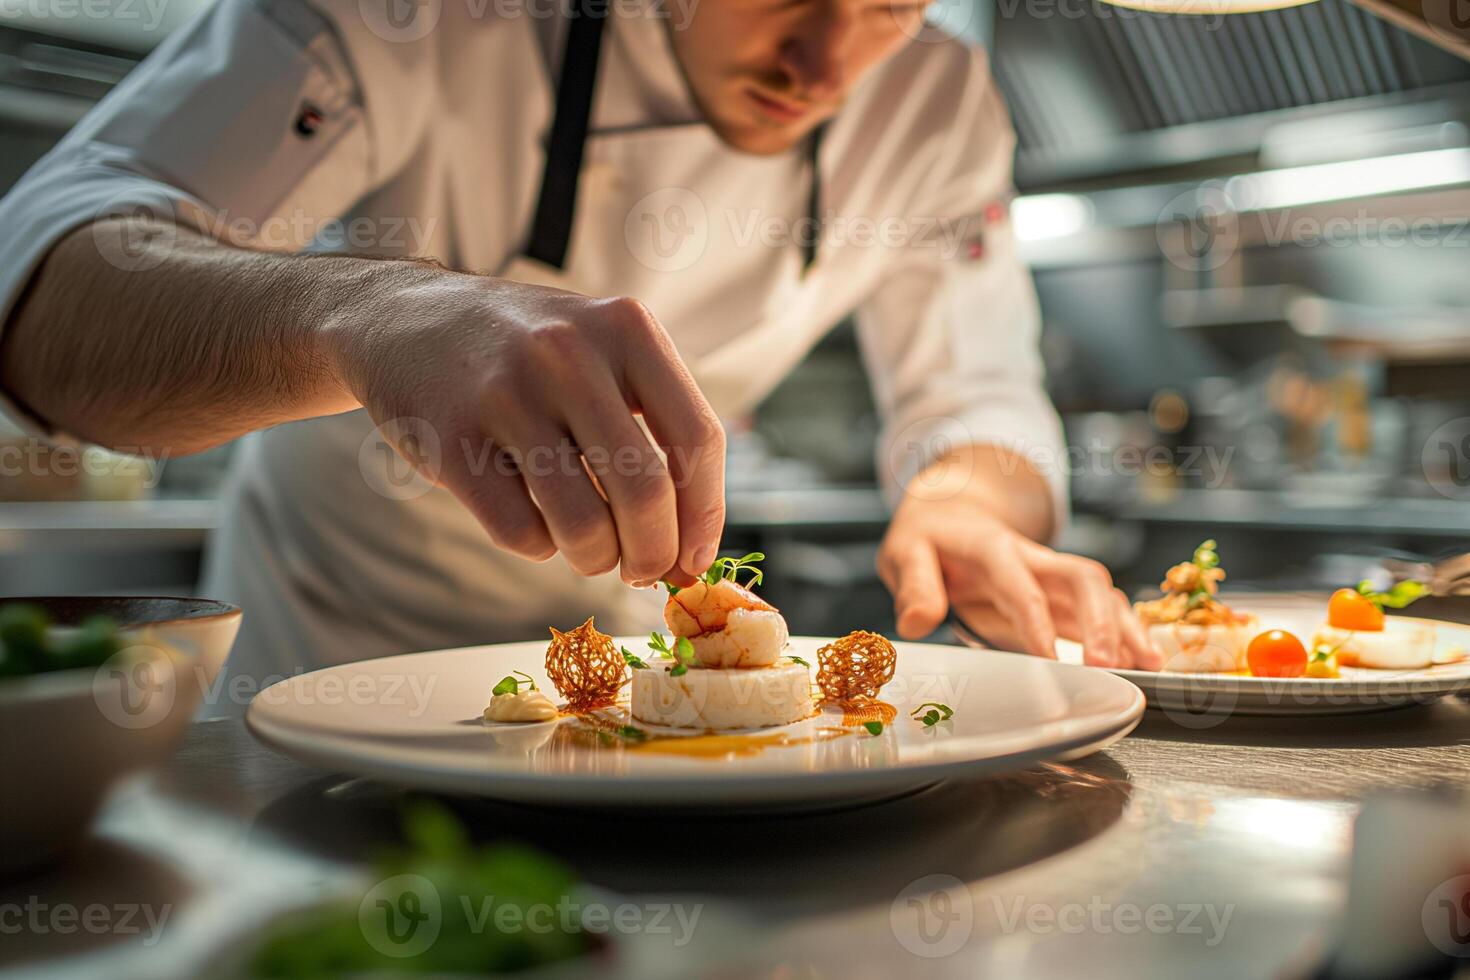
[[[623,582],[653,585],[679,560],[673,480],[663,457],[612,376],[588,376],[579,397],[566,403],[566,417],[587,467],[607,494]]]

